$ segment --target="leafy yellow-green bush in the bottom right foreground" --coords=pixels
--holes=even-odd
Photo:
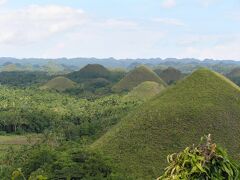
[[[224,150],[212,143],[210,135],[206,141],[197,147],[187,147],[180,153],[169,155],[169,166],[158,180],[239,179],[239,166],[228,158]]]

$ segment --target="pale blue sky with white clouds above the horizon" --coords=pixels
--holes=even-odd
[[[0,57],[240,60],[240,0],[0,0]]]

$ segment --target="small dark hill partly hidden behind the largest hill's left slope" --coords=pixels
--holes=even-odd
[[[158,74],[162,80],[164,80],[167,84],[173,84],[183,78],[183,74],[181,71],[168,67],[167,69],[161,70],[161,69],[156,69],[154,70],[156,74]]]

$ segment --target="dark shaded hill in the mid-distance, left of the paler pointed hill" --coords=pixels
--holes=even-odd
[[[75,71],[67,75],[69,79],[79,83],[95,78],[109,79],[110,76],[111,72],[99,64],[88,64],[79,71]]]

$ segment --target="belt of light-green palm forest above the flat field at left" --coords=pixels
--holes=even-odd
[[[57,129],[67,139],[100,135],[139,104],[117,95],[91,101],[5,86],[0,87],[0,95],[0,131],[41,133]]]

